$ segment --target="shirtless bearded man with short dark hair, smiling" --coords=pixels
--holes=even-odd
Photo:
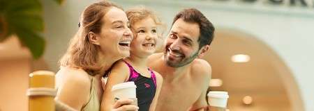
[[[157,111],[207,109],[211,66],[201,60],[214,38],[214,26],[194,8],[179,12],[165,41],[164,53],[149,57],[149,67],[163,76]]]

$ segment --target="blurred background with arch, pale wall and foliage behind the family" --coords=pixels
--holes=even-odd
[[[37,6],[26,4],[29,10],[18,7],[26,17],[6,11],[13,8],[4,1],[0,0],[0,111],[22,111],[28,108],[28,74],[58,71],[58,60],[78,29],[82,10],[96,0],[65,0],[61,5],[58,0],[34,0]],[[228,111],[314,110],[313,0],[114,2],[125,10],[138,5],[151,8],[167,31],[181,9],[201,10],[216,27],[204,58],[213,71],[209,88],[229,92]]]

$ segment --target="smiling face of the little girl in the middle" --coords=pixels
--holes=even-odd
[[[158,40],[156,22],[147,17],[135,22],[131,27],[134,38],[130,43],[130,55],[147,58],[156,51]]]

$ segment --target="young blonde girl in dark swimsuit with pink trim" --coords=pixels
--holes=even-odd
[[[147,67],[147,58],[156,51],[158,42],[157,27],[161,25],[153,12],[146,8],[133,8],[126,11],[133,33],[130,43],[130,57],[118,61],[110,71],[103,96],[102,107],[112,107],[112,85],[134,81],[137,105],[140,111],[155,110],[163,78]]]

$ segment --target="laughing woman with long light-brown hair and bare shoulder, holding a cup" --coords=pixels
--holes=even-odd
[[[61,58],[56,100],[75,110],[100,110],[101,78],[117,60],[130,55],[132,33],[126,13],[109,1],[93,3],[82,13],[80,28]],[[112,110],[137,110],[119,100]]]

